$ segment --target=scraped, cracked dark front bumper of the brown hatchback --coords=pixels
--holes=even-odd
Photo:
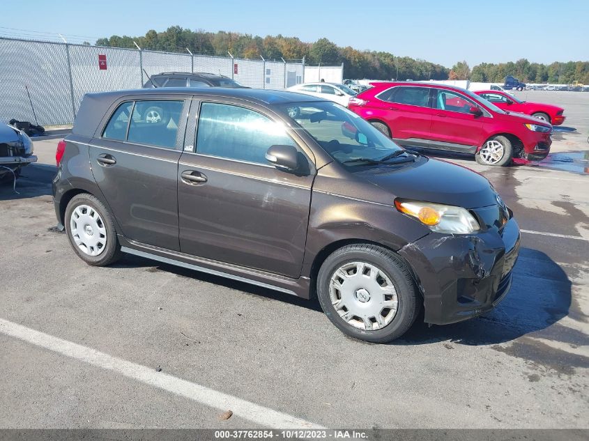
[[[512,217],[500,233],[431,233],[399,250],[424,296],[425,322],[456,323],[496,307],[510,289],[519,242]]]

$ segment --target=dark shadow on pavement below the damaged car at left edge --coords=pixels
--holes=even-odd
[[[31,164],[23,167],[20,177],[0,185],[0,201],[28,199],[51,194],[52,180],[57,167],[47,164]]]

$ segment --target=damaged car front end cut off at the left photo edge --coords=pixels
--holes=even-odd
[[[36,162],[33,143],[26,133],[0,123],[0,183],[12,183],[20,169]]]

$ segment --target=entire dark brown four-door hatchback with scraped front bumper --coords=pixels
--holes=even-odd
[[[421,307],[427,323],[479,316],[512,281],[519,227],[487,179],[309,95],[86,95],[56,160],[59,228],[86,263],[129,253],[317,295],[358,339],[401,336]]]

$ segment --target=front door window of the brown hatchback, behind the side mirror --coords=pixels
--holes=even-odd
[[[274,145],[296,146],[280,123],[245,107],[201,105],[197,153],[267,165],[266,152]]]

